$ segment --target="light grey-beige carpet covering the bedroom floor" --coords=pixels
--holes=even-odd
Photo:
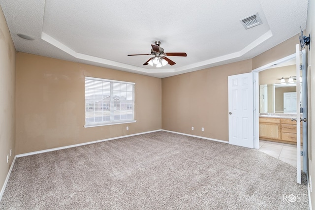
[[[164,131],[17,158],[1,210],[308,209],[263,152]]]

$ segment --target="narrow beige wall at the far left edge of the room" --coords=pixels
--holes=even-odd
[[[12,149],[12,156],[10,150]],[[9,154],[9,162],[6,156]],[[15,156],[15,48],[0,6],[0,190]]]

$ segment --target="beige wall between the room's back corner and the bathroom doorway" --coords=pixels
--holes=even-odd
[[[244,60],[163,78],[162,129],[228,141],[227,77],[251,70]]]

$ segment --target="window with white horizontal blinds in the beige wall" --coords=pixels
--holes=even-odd
[[[85,127],[135,122],[135,83],[85,78]]]

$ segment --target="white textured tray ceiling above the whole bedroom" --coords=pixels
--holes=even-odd
[[[253,58],[306,26],[308,0],[0,0],[17,51],[168,77]],[[245,30],[255,13],[262,23]],[[17,36],[26,34],[34,40]],[[176,62],[143,65],[161,41]]]

